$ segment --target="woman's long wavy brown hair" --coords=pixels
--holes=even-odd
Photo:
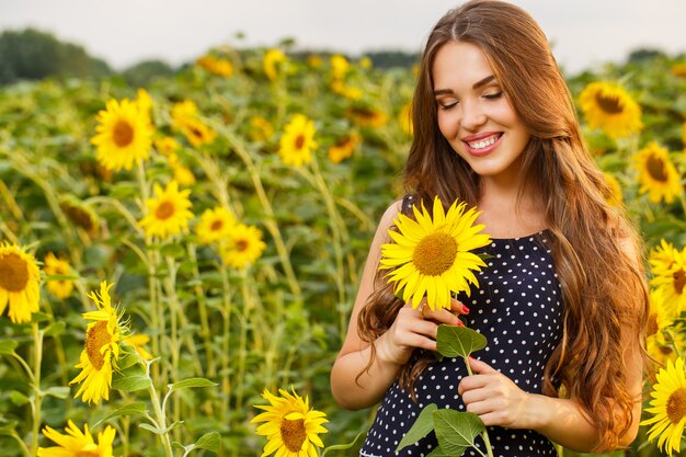
[[[564,301],[562,340],[545,367],[544,393],[558,397],[563,386],[563,395],[574,397],[601,431],[598,449],[616,447],[632,423],[636,401],[627,388],[624,351],[637,341],[643,347],[648,316],[639,237],[624,210],[607,203],[610,190],[583,144],[572,96],[546,35],[528,13],[502,1],[469,1],[443,16],[428,36],[412,104],[414,140],[405,191],[416,201],[438,195],[443,202],[479,202],[479,175],[438,129],[432,67],[450,41],[483,50],[531,135],[521,172],[542,202]],[[358,317],[361,336],[373,342],[402,305],[377,275],[375,293]],[[412,391],[431,359],[431,354],[414,357],[403,367],[405,389]]]

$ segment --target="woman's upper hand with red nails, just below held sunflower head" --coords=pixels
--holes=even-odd
[[[431,310],[423,298],[415,309],[405,304],[392,325],[377,340],[377,354],[385,362],[402,365],[410,359],[412,351],[421,347],[436,351],[438,324],[464,325],[457,315],[466,315],[469,309],[451,299],[450,309]]]

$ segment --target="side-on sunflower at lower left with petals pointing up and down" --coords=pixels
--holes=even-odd
[[[69,384],[83,381],[75,398],[82,395],[81,399],[92,401],[95,404],[101,399],[110,399],[112,386],[112,372],[116,369],[116,361],[119,356],[119,342],[124,328],[121,323],[121,313],[112,306],[110,289],[114,284],[107,285],[106,281],[100,284],[100,294],[91,292],[89,298],[95,302],[98,311],[84,312],[83,318],[93,322],[85,329],[85,343],[76,368],[81,373]]]

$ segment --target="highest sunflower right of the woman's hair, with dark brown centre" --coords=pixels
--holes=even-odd
[[[579,104],[591,128],[599,127],[613,139],[638,133],[643,127],[641,106],[620,85],[592,82],[579,95]]]

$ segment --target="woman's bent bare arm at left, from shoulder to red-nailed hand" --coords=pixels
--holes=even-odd
[[[438,323],[457,325],[459,322],[455,315],[445,309],[425,310],[424,316],[431,319],[427,320],[418,309],[412,309],[410,305],[403,306],[388,331],[374,342],[376,357],[368,372],[365,372],[371,357],[371,347],[357,333],[357,316],[374,292],[381,244],[390,242],[387,231],[399,210],[400,202],[396,202],[381,217],[362,275],[347,334],[331,370],[331,392],[339,404],[346,409],[368,408],[378,403],[415,347],[436,350]],[[453,309],[461,310],[461,305],[454,300]],[[362,376],[357,378],[361,373]]]

